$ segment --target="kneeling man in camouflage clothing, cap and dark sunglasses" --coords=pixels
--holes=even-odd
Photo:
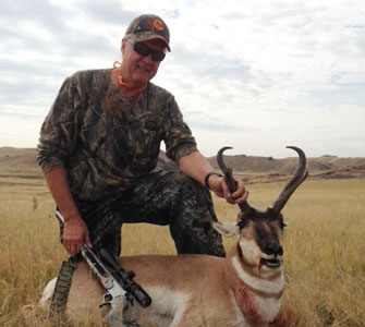
[[[173,96],[149,82],[169,40],[160,17],[136,17],[120,66],[68,77],[42,124],[38,164],[64,217],[61,241],[70,255],[83,242],[119,255],[124,222],[169,225],[178,253],[224,255],[204,184],[229,203],[243,203],[248,193],[242,181],[229,193]],[[161,141],[181,171],[153,171]]]

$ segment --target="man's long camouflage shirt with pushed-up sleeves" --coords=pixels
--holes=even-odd
[[[156,167],[161,141],[174,161],[197,150],[170,93],[149,83],[131,100],[110,74],[68,77],[41,126],[38,164],[44,173],[64,168],[75,199],[100,201],[135,186]]]

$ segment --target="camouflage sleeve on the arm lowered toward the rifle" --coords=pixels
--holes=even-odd
[[[64,168],[64,158],[75,148],[80,111],[80,93],[68,77],[40,129],[37,161],[44,173]]]

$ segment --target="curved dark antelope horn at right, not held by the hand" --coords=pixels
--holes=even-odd
[[[284,207],[289,197],[293,194],[293,192],[296,190],[296,187],[299,185],[301,185],[304,182],[304,180],[306,179],[306,177],[308,175],[308,172],[305,171],[306,159],[305,159],[304,152],[296,146],[287,146],[287,148],[292,148],[293,150],[295,150],[299,154],[300,158],[299,158],[299,166],[296,168],[296,171],[295,171],[294,175],[289,181],[289,183],[287,184],[287,186],[281,192],[278,199],[275,202],[275,204],[272,206],[272,209],[278,214]]]

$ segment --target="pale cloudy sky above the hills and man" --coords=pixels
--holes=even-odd
[[[155,13],[172,93],[199,150],[365,157],[363,0],[0,0],[0,146],[36,147],[66,76],[121,60],[129,23]]]

